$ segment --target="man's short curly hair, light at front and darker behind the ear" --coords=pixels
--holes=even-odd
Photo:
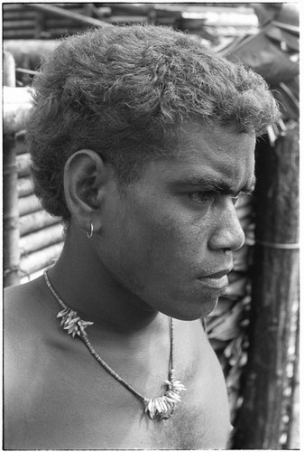
[[[261,76],[184,33],[149,24],[108,26],[64,39],[34,80],[27,141],[35,193],[69,221],[63,169],[90,148],[131,184],[168,155],[182,123],[203,120],[263,134],[279,118]]]

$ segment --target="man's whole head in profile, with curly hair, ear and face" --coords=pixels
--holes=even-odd
[[[244,242],[255,138],[278,118],[263,79],[168,28],[110,26],[64,40],[35,88],[36,193],[69,223],[73,265],[136,312],[207,315]]]

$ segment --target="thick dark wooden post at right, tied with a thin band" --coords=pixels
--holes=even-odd
[[[234,448],[289,442],[299,317],[299,125],[257,148],[253,297]],[[259,152],[260,151],[260,152]]]

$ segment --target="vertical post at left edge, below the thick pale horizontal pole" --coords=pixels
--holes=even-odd
[[[19,212],[14,134],[4,136],[4,286],[19,284]]]

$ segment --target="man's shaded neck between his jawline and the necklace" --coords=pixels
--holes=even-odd
[[[86,235],[73,228],[48,272],[63,302],[107,330],[132,333],[157,324],[162,315],[117,282],[90,245]]]

